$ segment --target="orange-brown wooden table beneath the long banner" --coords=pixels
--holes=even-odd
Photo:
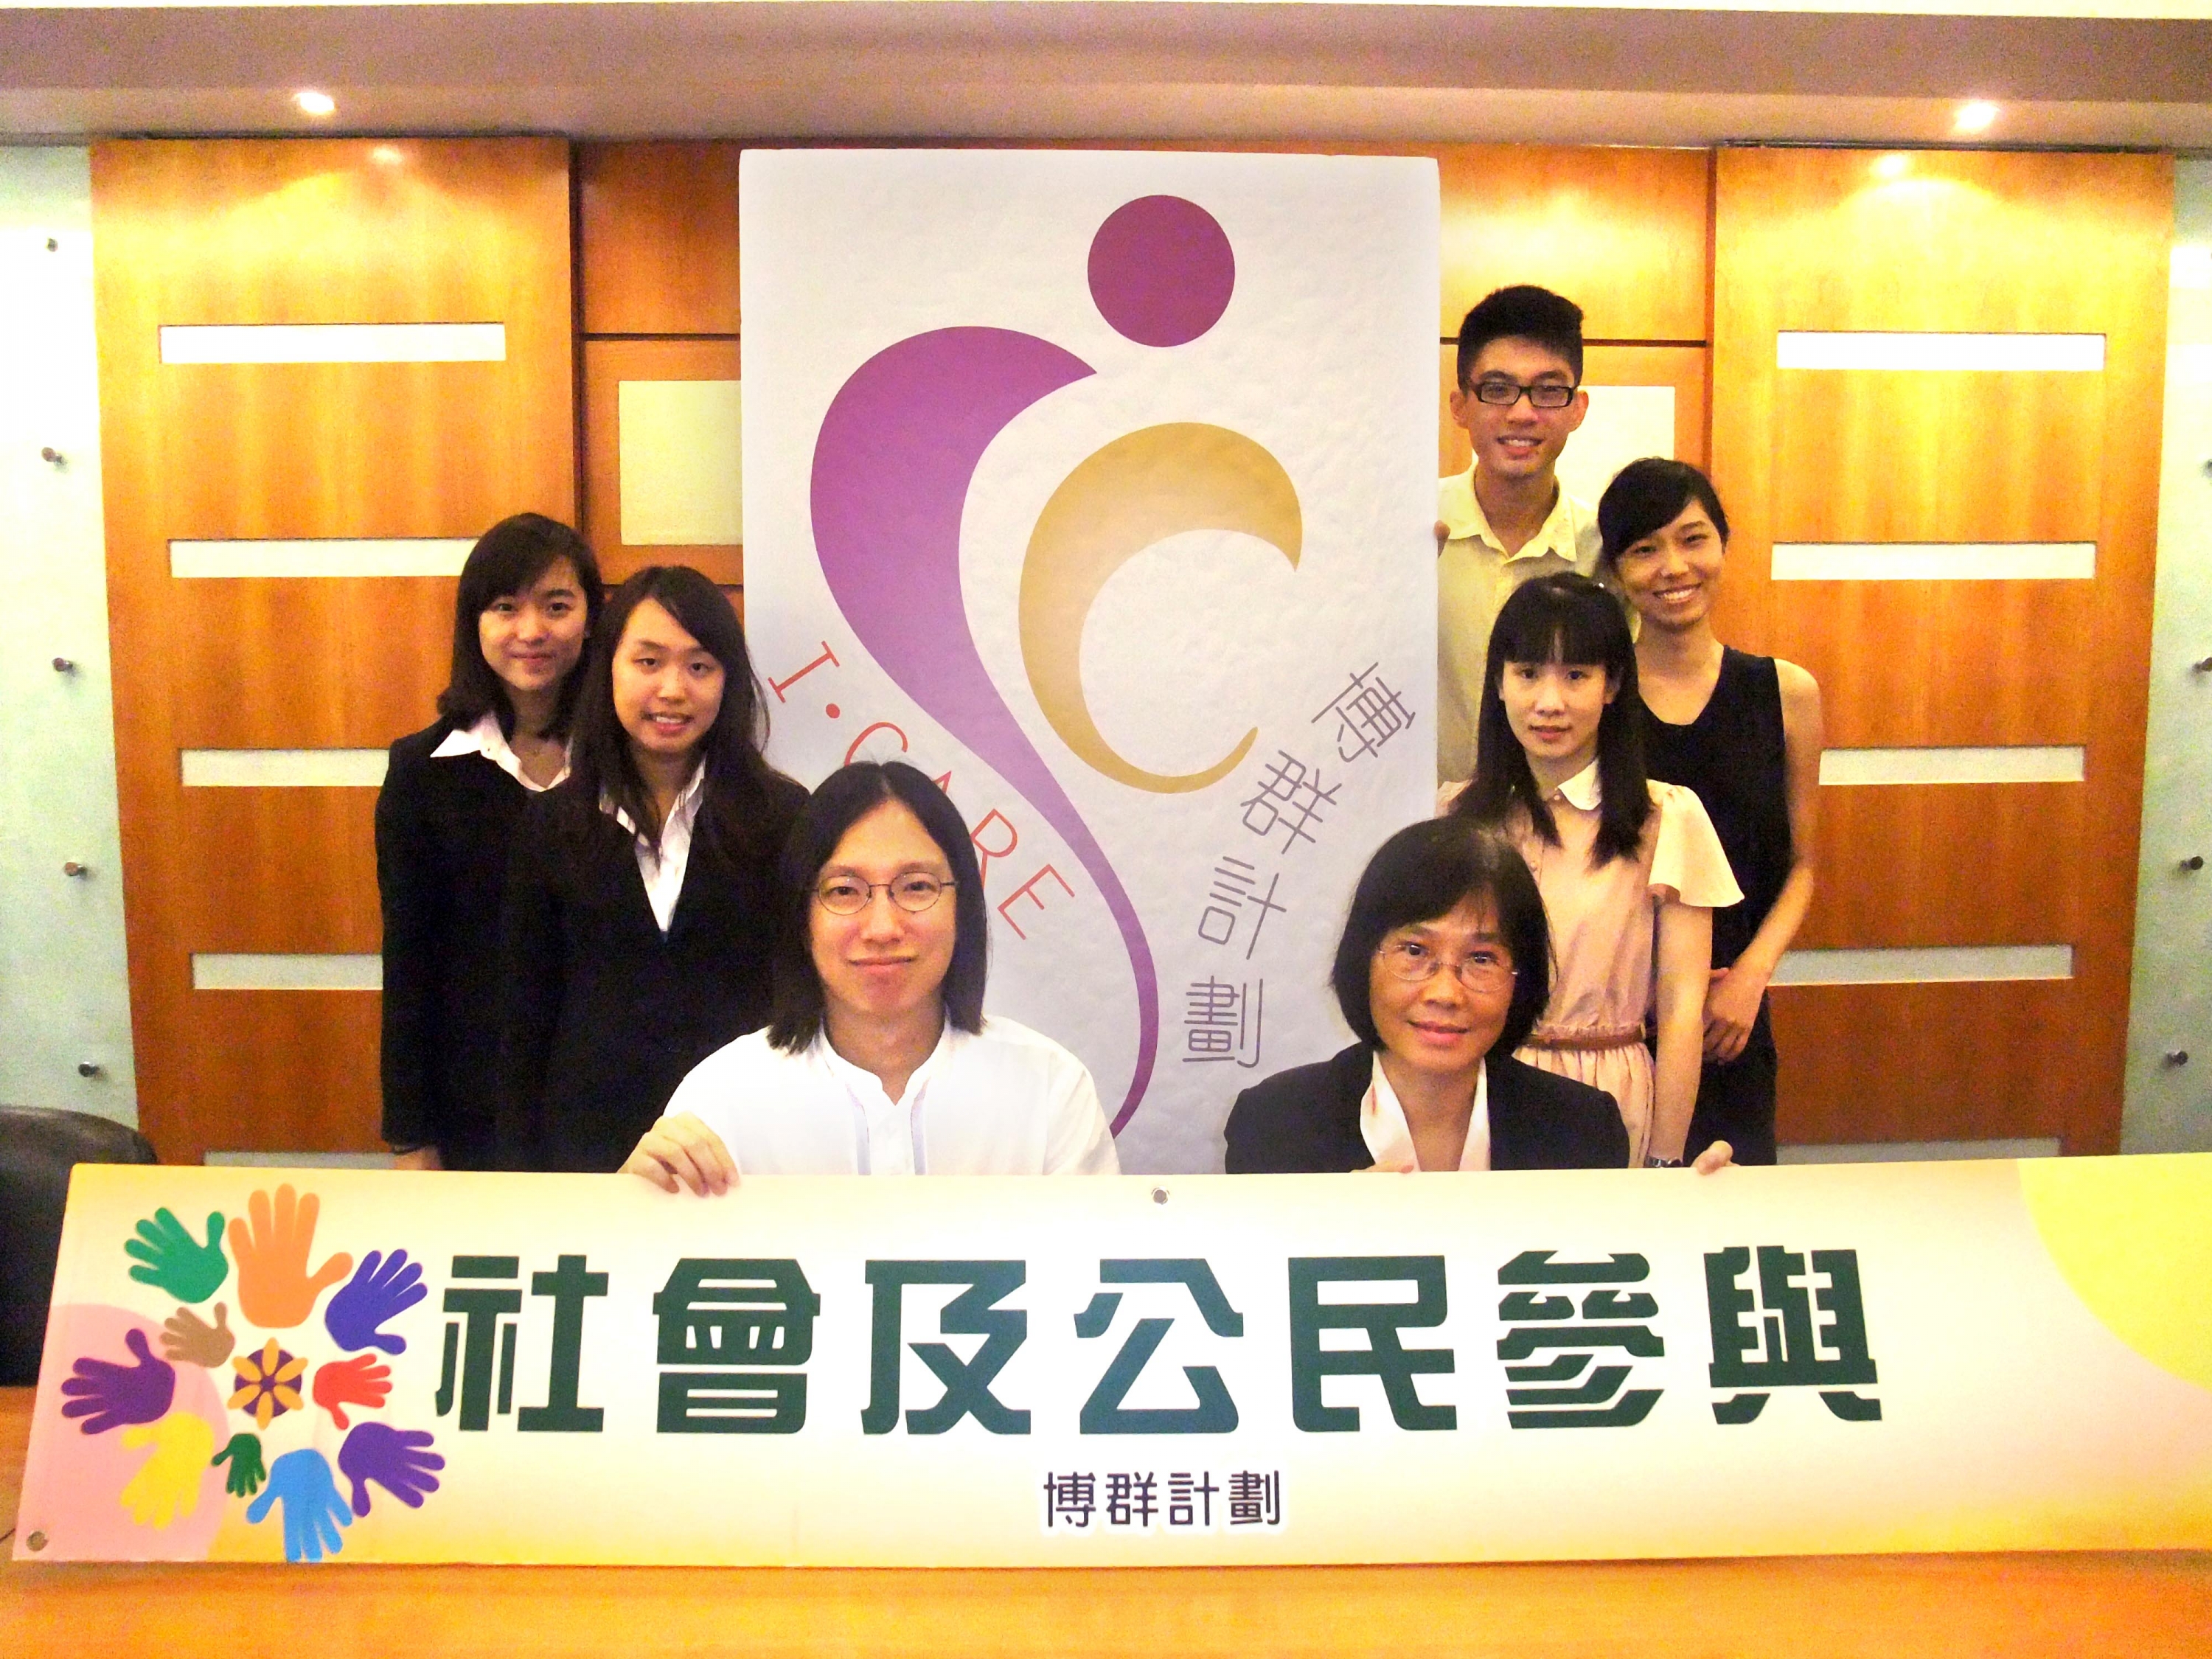
[[[0,1528],[31,1389],[0,1389]],[[13,1551],[13,1535],[7,1537]],[[0,1562],[0,1655],[2212,1655],[2212,1555],[783,1571]]]

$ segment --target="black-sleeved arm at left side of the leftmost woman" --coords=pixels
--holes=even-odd
[[[429,1144],[438,1135],[431,1110],[440,969],[436,856],[422,812],[420,763],[394,752],[385,787],[376,792],[376,896],[385,916],[383,1135],[392,1146],[425,1150],[434,1150]],[[403,1161],[422,1168],[420,1152]]]

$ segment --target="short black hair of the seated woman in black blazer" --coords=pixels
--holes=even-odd
[[[1427,818],[1376,847],[1352,891],[1345,936],[1336,942],[1336,967],[1329,971],[1336,1006],[1369,1048],[1383,1046],[1367,993],[1374,953],[1394,929],[1433,922],[1469,898],[1486,900],[1495,911],[1498,933],[1513,958],[1513,1002],[1493,1053],[1513,1053],[1535,1031],[1551,1002],[1551,922],[1535,876],[1520,849],[1495,830],[1460,816]]]

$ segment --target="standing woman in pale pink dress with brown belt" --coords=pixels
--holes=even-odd
[[[1551,1000],[1517,1057],[1604,1088],[1630,1166],[1670,1168],[1697,1106],[1712,911],[1743,894],[1697,794],[1646,779],[1635,706],[1619,599],[1579,575],[1524,582],[1491,630],[1475,776],[1451,812],[1513,838],[1551,916]]]

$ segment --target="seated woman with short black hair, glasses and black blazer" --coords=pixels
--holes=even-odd
[[[1385,841],[1332,984],[1360,1040],[1237,1097],[1230,1175],[1628,1164],[1613,1095],[1511,1057],[1551,995],[1551,929],[1506,841],[1460,818]]]

